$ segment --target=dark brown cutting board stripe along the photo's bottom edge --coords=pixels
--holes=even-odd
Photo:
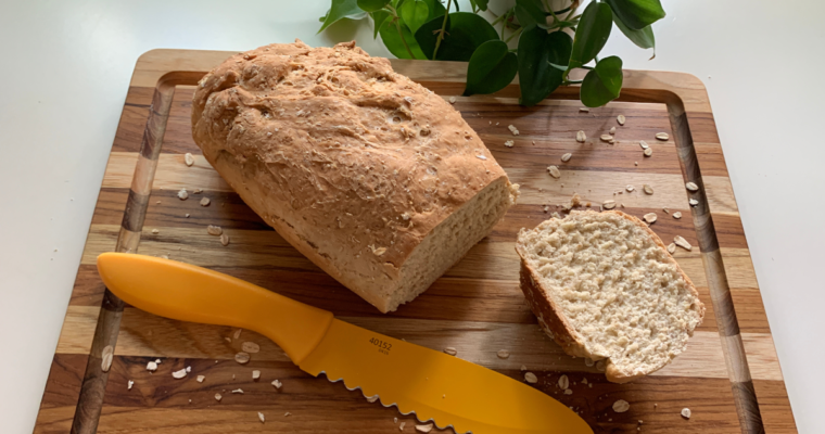
[[[177,430],[185,430],[188,423],[196,423],[201,416],[198,410],[210,410],[213,414],[221,411],[246,412],[250,421],[256,421],[256,412],[262,411],[267,414],[267,423],[280,420],[285,411],[290,411],[296,417],[290,420],[290,432],[332,430],[379,433],[393,429],[392,425],[378,423],[380,419],[405,420],[395,409],[384,409],[378,404],[367,403],[359,391],[347,391],[341,383],[330,383],[323,376],[313,378],[289,362],[255,361],[254,355],[253,360],[245,366],[224,360],[215,363],[214,360],[206,359],[166,358],[157,372],[150,374],[145,371],[145,363],[151,359],[153,358],[115,357],[103,413],[117,414],[118,418],[104,417],[101,432],[151,431],[155,423],[156,426],[174,425]],[[187,378],[172,379],[170,372],[188,366],[192,372]],[[259,381],[252,380],[252,370],[261,371]],[[518,381],[523,379],[523,372],[518,370],[499,372]],[[557,386],[561,373],[532,372],[540,379],[536,388],[566,406],[573,407],[597,433],[636,432],[638,426],[644,432],[657,433],[738,431],[736,409],[732,405],[729,383],[725,379],[648,376],[620,385],[608,383],[604,374],[573,373],[568,375],[573,394],[564,395]],[[198,383],[196,375],[204,375],[204,382]],[[269,384],[275,379],[283,383],[281,390],[275,390]],[[593,386],[584,384],[584,379]],[[126,386],[128,380],[135,381],[131,391]],[[244,393],[232,394],[231,391],[236,388],[242,388]],[[223,395],[220,403],[215,400],[215,393]],[[631,404],[627,412],[617,413],[612,410],[612,405],[618,399]],[[329,401],[334,401],[335,406],[328,406]],[[680,416],[685,407],[693,411],[690,420]],[[158,411],[162,409],[167,411]],[[316,412],[320,409],[325,411],[323,417]],[[123,423],[126,417],[124,411],[135,413],[128,417],[132,423]],[[329,411],[335,414],[328,414]],[[359,420],[356,431],[347,430],[341,422],[341,418],[354,417],[353,412],[357,413],[356,419]],[[378,412],[378,416],[373,417],[373,412]],[[145,416],[141,418],[140,414]],[[168,419],[152,420],[157,417]],[[373,419],[376,423],[364,422]],[[643,421],[640,425],[639,420]],[[397,430],[397,425],[394,429]],[[412,426],[408,427],[411,429]]]

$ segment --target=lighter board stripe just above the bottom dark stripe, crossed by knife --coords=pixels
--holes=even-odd
[[[72,328],[64,328],[61,333],[58,353],[88,354],[99,311],[97,307],[71,306],[66,314],[66,324],[71,323]],[[566,355],[535,324],[392,317],[341,319],[432,349],[441,350],[452,346],[458,349],[460,358],[491,369],[519,369],[525,365],[532,370],[598,372],[595,368],[586,367],[584,359]],[[255,354],[253,360],[289,361],[283,352],[268,339],[251,331],[243,333],[240,341],[252,341],[261,345],[261,353]],[[232,330],[226,327],[180,322],[126,307],[115,354],[230,360],[240,350],[242,343],[225,340],[231,335]],[[782,380],[775,355],[765,356],[764,352],[765,348],[773,348],[771,335],[749,333],[747,342],[751,375],[760,380]],[[499,349],[510,350],[510,358],[498,358],[496,352]],[[655,375],[727,378],[719,333],[696,332],[687,350]]]

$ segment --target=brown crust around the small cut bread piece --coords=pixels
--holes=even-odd
[[[571,214],[574,213],[594,213],[594,210],[574,210]],[[685,272],[682,270],[681,267],[678,267],[678,263],[676,263],[676,259],[673,258],[673,256],[668,252],[668,247],[664,245],[662,240],[659,238],[659,235],[656,234],[645,222],[639,220],[638,218],[631,216],[629,214],[622,213],[620,210],[607,210],[602,213],[609,213],[613,214],[615,216],[619,216],[633,225],[642,228],[645,230],[645,232],[650,235],[653,240],[653,242],[661,248],[664,254],[667,254],[668,261],[676,265],[676,268],[678,269],[680,275],[687,283],[687,289],[696,296],[697,303],[698,303],[698,310],[699,310],[699,322],[700,324],[702,320],[705,319],[705,304],[701,303],[699,299],[699,292],[696,290],[696,286],[694,286],[694,283],[690,281],[690,278],[685,275]],[[523,229],[522,229],[523,230]],[[524,293],[524,297],[528,301],[528,304],[530,305],[531,310],[533,314],[538,318],[538,323],[542,327],[542,329],[547,333],[550,337],[556,341],[557,344],[561,346],[561,348],[564,350],[564,353],[575,356],[575,357],[588,357],[593,360],[600,360],[605,357],[591,354],[587,352],[584,339],[581,336],[581,334],[573,328],[573,326],[567,320],[567,317],[563,315],[561,309],[558,307],[558,305],[555,303],[553,297],[549,294],[549,290],[542,288],[542,285],[538,283],[541,282],[540,273],[537,270],[535,270],[530,263],[526,259],[526,252],[523,251],[523,246],[521,243],[516,243],[516,252],[519,254],[519,257],[521,258],[521,268],[520,268],[520,278],[519,278],[519,286],[521,288],[521,291]],[[689,336],[693,336],[693,330],[684,329],[685,332]],[[656,370],[661,369],[663,366],[656,368],[655,370],[651,370],[649,372],[643,372],[635,375],[629,375],[626,373],[623,373],[621,370],[619,370],[609,358],[607,360],[606,371],[605,375],[607,376],[607,380],[612,383],[627,383],[633,380],[639,379],[642,376],[645,376],[651,372],[655,372]]]

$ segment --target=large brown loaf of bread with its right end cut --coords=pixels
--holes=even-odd
[[[355,42],[231,56],[199,82],[192,136],[268,225],[382,312],[426,291],[518,193],[459,112]]]

